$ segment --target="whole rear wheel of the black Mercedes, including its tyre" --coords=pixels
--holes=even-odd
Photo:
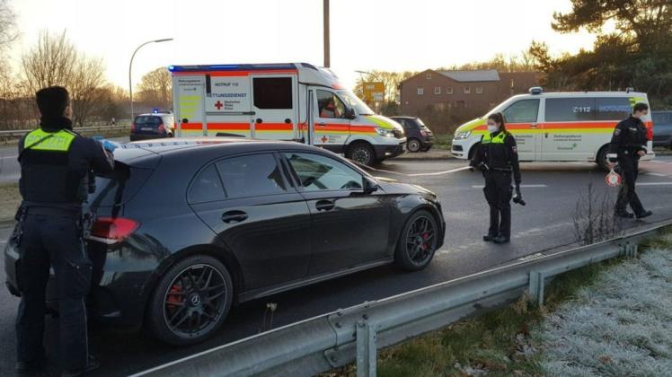
[[[156,285],[147,311],[149,329],[174,346],[200,343],[224,322],[233,287],[219,260],[205,255],[181,260]]]

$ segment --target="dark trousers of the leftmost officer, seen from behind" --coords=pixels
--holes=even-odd
[[[92,264],[84,250],[79,216],[31,209],[25,217],[16,271],[22,293],[16,320],[18,359],[31,363],[45,356],[44,300],[52,266],[58,295],[58,357],[66,370],[82,370],[89,355],[84,297]]]

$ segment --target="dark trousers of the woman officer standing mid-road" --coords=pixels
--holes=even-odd
[[[485,200],[490,206],[490,229],[492,237],[511,236],[511,173],[508,171],[487,171],[485,175]]]

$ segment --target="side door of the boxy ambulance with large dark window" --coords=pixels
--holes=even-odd
[[[296,75],[250,75],[252,137],[296,140],[298,85]]]

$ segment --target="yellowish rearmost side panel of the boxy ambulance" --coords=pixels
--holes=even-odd
[[[174,75],[172,90],[175,98],[177,136],[204,136],[205,76]]]

